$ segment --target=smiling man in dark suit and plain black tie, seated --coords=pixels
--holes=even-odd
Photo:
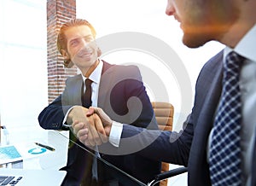
[[[111,65],[100,60],[101,50],[97,47],[95,38],[95,29],[86,20],[70,20],[61,26],[57,46],[64,58],[64,65],[75,65],[81,74],[67,78],[63,93],[38,116],[39,124],[44,129],[70,130],[73,142],[69,144],[67,166],[61,169],[67,171],[67,177],[62,185],[108,185],[110,179],[112,182],[115,182],[115,179],[121,182],[119,177],[109,176],[104,165],[97,166],[94,161],[96,159],[83,149],[87,148],[96,153],[96,148],[85,147],[73,135],[72,124],[86,125],[87,122],[95,120],[93,117],[85,117],[90,106],[104,108],[120,123],[158,129],[138,67]],[[136,101],[132,101],[131,97],[136,97]],[[138,110],[138,103],[141,110]],[[131,112],[132,110],[137,112]],[[94,137],[106,141],[103,136],[98,136],[96,129],[91,130],[95,131]],[[92,142],[89,145],[96,144],[97,142]],[[158,160],[152,161],[135,154],[98,155],[143,183],[148,183],[151,177],[160,172]],[[98,172],[94,173],[96,170]]]

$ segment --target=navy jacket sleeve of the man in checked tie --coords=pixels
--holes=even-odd
[[[183,128],[184,130],[180,132],[154,131],[124,125],[119,150],[132,148],[151,160],[187,166],[194,131],[193,125],[189,123],[189,117],[184,122]]]

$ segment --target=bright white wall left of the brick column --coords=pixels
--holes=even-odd
[[[48,104],[46,0],[0,1],[1,123],[38,125]]]

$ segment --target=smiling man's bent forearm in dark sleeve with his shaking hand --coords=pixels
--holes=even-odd
[[[70,109],[67,113],[67,110]],[[61,96],[55,99],[54,102],[50,103],[48,107],[39,114],[38,121],[42,128],[48,130],[68,130],[69,127],[63,126],[62,122],[65,117],[64,113],[67,113],[67,125],[70,125],[70,130],[73,131],[73,125],[86,126],[90,130],[88,136],[89,146],[95,146],[107,141],[105,131],[99,127],[101,124],[100,119],[96,119],[96,114],[86,116],[88,108],[82,106],[64,106],[61,104]]]

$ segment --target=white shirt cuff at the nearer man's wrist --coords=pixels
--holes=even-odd
[[[109,142],[113,144],[114,147],[119,147],[122,131],[123,124],[113,121],[111,131],[109,134]]]

